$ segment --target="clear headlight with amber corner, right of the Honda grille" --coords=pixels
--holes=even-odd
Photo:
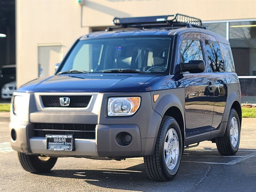
[[[108,99],[108,116],[130,116],[140,107],[140,97],[111,97]]]

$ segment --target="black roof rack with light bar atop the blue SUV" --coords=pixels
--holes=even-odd
[[[154,28],[154,27],[202,27],[202,21],[200,19],[189,17],[187,15],[175,14],[175,15],[163,15],[163,16],[150,16],[150,17],[127,17],[118,18],[115,17],[112,21],[113,24],[119,26],[119,28]],[[114,28],[108,28],[112,30]]]

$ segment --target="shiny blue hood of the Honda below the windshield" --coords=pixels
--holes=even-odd
[[[62,74],[39,77],[19,92],[138,92],[157,74]]]

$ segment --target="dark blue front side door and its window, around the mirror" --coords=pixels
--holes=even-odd
[[[180,63],[204,60],[199,33],[183,36],[180,44]],[[214,97],[211,73],[185,72],[185,122],[186,137],[210,131],[212,128]]]

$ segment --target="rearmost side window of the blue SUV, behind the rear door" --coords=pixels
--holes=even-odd
[[[220,43],[220,49],[222,52],[222,57],[225,61],[226,72],[235,72],[234,60],[231,52],[231,47],[227,44]]]

